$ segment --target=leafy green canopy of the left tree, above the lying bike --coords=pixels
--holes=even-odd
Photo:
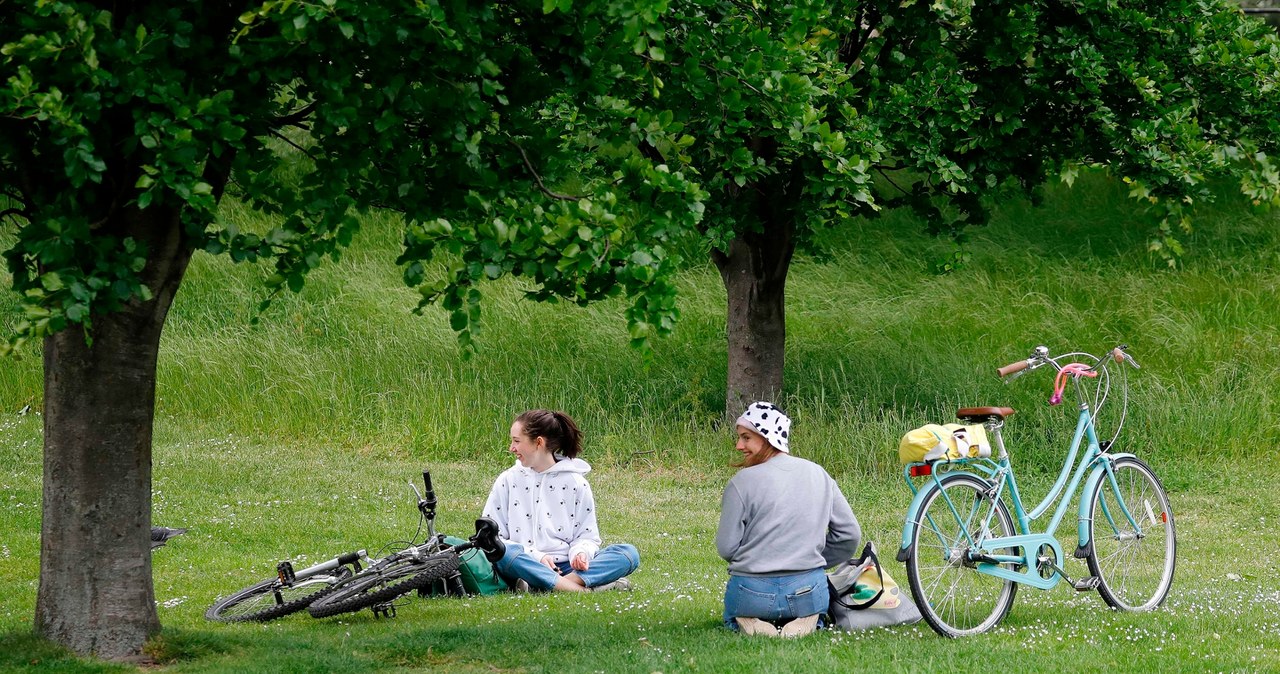
[[[268,285],[294,290],[340,255],[357,212],[403,211],[407,280],[422,281],[438,247],[462,260],[424,295],[463,335],[484,278],[527,275],[580,301],[664,283],[660,242],[696,220],[699,191],[625,151],[676,139],[611,91],[643,77],[628,60],[659,43],[660,3],[557,6],[5,9],[0,185],[9,226],[20,223],[6,252],[31,317],[19,333],[91,326],[150,298],[138,274],[155,251],[108,225],[132,208],[180,208],[187,246],[273,260]],[[571,132],[586,120],[584,146]],[[282,146],[308,157],[298,183],[274,173]],[[572,194],[549,188],[567,175]],[[228,182],[279,224],[247,233],[220,220]],[[636,322],[662,315],[634,310]]]

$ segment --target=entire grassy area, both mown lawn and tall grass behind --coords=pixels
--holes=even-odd
[[[246,229],[251,214],[229,203]],[[159,524],[191,527],[154,556],[163,671],[828,671],[1280,669],[1280,238],[1276,219],[1204,214],[1178,270],[1143,249],[1143,220],[1102,179],[1010,203],[974,231],[970,266],[929,272],[947,244],[891,214],[855,223],[788,281],[787,384],[797,455],[827,466],[888,570],[909,503],[896,443],[956,407],[1019,409],[1006,439],[1036,501],[1074,428],[1051,408],[1051,377],[1012,385],[993,367],[1036,344],[1055,352],[1128,343],[1143,370],[1120,449],[1170,491],[1179,565],[1166,605],[1107,610],[1096,592],[1024,588],[1006,622],[947,641],[925,625],[819,633],[795,642],[718,628],[723,563],[713,535],[732,474],[723,400],[723,290],[691,261],[677,334],[644,363],[626,347],[623,306],[586,310],[486,288],[480,350],[462,359],[447,318],[408,312],[389,263],[396,223],[370,216],[339,263],[250,325],[261,269],[198,256],[160,363],[155,449]],[[0,242],[3,243],[3,242]],[[8,302],[8,304],[5,303]],[[0,295],[0,324],[12,297]],[[29,636],[38,582],[40,353],[0,363],[0,670],[124,671],[70,659]],[[17,414],[32,404],[35,412]],[[611,541],[643,555],[630,593],[407,600],[398,616],[204,620],[220,595],[353,547],[415,532],[407,481],[430,468],[439,528],[466,535],[511,463],[511,418],[568,411]],[[1064,405],[1070,407],[1070,405]],[[1112,408],[1114,409],[1114,408]],[[1103,414],[1103,428],[1114,422]],[[1068,517],[1060,535],[1074,531]],[[1073,550],[1074,544],[1065,545]],[[91,561],[91,560],[87,560]],[[1068,572],[1085,574],[1069,560]],[[156,669],[156,668],[148,668]]]

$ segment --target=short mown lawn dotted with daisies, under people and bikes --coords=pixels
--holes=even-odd
[[[5,446],[38,460],[35,421],[6,423]],[[708,439],[727,459],[728,439]],[[237,437],[165,443],[156,468],[156,521],[192,527],[159,549],[156,600],[165,624],[155,655],[172,671],[797,671],[872,666],[890,670],[1262,671],[1280,668],[1280,583],[1258,554],[1280,549],[1275,476],[1247,471],[1172,491],[1179,527],[1175,587],[1149,614],[1108,610],[1096,592],[1023,590],[995,632],[947,641],[928,627],[819,633],[796,642],[740,638],[718,628],[723,564],[714,536],[728,468],[680,469],[646,460],[604,462],[593,473],[602,528],[644,555],[632,592],[504,595],[404,600],[394,619],[369,611],[314,620],[305,614],[257,625],[204,620],[220,593],[338,551],[413,533],[416,510],[404,483],[430,467],[440,495],[438,524],[470,527],[493,476],[507,466],[497,449],[471,462],[315,446],[262,446]],[[8,458],[8,457],[6,457]],[[8,462],[6,462],[8,463]],[[237,476],[230,480],[228,476]],[[18,591],[4,600],[0,669],[36,662],[50,671],[124,670],[68,660],[20,633],[36,591],[38,476],[5,476],[12,498],[3,553]],[[867,535],[891,559],[908,503],[888,477],[840,480]],[[1044,482],[1043,480],[1038,482]],[[1038,496],[1043,485],[1027,490]],[[1066,547],[1066,546],[1064,546]],[[1070,549],[1070,547],[1068,547]],[[887,561],[905,583],[902,565]],[[1084,574],[1071,560],[1069,573]],[[1235,576],[1233,576],[1235,574]]]

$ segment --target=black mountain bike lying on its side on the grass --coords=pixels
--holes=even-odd
[[[436,499],[429,471],[422,471],[422,485],[425,495],[410,482],[417,495],[419,522],[426,521],[424,542],[411,544],[378,560],[357,550],[302,570],[282,561],[275,578],[218,600],[205,611],[205,618],[224,623],[266,622],[302,609],[308,609],[315,618],[325,618],[365,607],[372,607],[375,615],[390,616],[396,614],[390,602],[413,590],[443,586],[444,595],[466,596],[458,555],[479,547],[490,561],[500,559],[504,546],[498,537],[498,524],[488,518],[477,519],[476,533],[467,542],[445,544],[444,535],[435,532]]]

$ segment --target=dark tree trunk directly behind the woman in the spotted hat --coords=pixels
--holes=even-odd
[[[783,295],[795,252],[795,225],[787,214],[772,212],[768,205],[759,210],[765,211],[762,231],[740,234],[727,253],[712,252],[728,295],[724,414],[730,419],[746,405],[772,402],[782,391],[787,336]]]

